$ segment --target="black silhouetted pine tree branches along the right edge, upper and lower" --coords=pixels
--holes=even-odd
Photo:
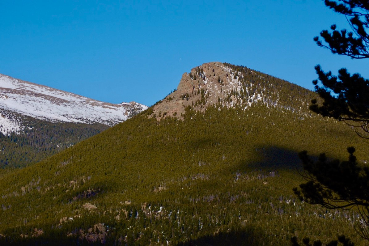
[[[369,58],[369,2],[368,0],[324,0],[327,7],[345,15],[352,29],[336,30],[331,25],[331,32],[323,30],[314,41],[318,46],[329,49],[332,53],[349,56],[352,59]],[[369,134],[369,80],[358,73],[351,75],[346,69],[325,73],[320,65],[315,66],[318,80],[314,80],[315,91],[322,102],[314,99],[310,109],[323,117],[332,117],[363,131],[356,131],[359,136],[368,138]],[[361,224],[356,231],[369,240],[369,168],[361,168],[354,156],[355,148],[349,147],[348,161],[328,160],[321,154],[316,162],[299,153],[305,172],[302,174],[307,183],[294,188],[300,200],[309,204],[320,204],[330,209],[357,207],[361,214]]]

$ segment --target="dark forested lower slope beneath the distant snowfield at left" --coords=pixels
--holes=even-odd
[[[23,116],[25,130],[0,133],[0,169],[24,167],[50,157],[108,128],[101,124],[48,122]]]

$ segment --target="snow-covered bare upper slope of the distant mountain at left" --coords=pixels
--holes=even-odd
[[[46,121],[101,123],[111,126],[147,108],[135,102],[104,103],[0,74],[0,132],[4,134],[22,128],[19,117],[15,119],[12,116],[15,114]]]

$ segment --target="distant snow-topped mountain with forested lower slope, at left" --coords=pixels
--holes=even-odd
[[[0,74],[0,169],[24,167],[145,110]]]

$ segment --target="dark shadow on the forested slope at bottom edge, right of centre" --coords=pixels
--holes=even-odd
[[[216,235],[191,239],[179,243],[178,246],[268,245],[267,238],[261,229],[248,225],[237,231],[219,232]]]

